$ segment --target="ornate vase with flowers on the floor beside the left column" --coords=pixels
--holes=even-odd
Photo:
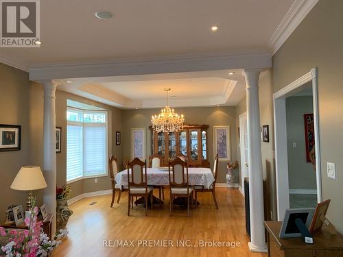
[[[70,186],[56,187],[56,229],[64,230],[73,211],[68,208],[67,197],[71,193]]]

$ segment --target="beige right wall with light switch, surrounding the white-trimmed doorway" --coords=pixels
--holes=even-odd
[[[273,56],[274,92],[318,67],[322,195],[331,199],[328,217],[343,232],[342,112],[343,1],[320,0]],[[327,178],[327,162],[336,180]]]

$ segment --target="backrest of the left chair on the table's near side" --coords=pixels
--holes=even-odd
[[[143,173],[145,168],[145,174]],[[130,175],[131,169],[131,175]],[[146,186],[147,185],[147,166],[146,161],[142,162],[139,158],[134,158],[128,162],[128,186]]]

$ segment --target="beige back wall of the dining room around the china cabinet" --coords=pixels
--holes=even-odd
[[[145,110],[124,110],[123,111],[123,156],[130,156],[130,129],[134,127],[145,127],[147,131],[147,158],[150,154],[150,119],[152,114],[157,114],[159,109]],[[237,160],[236,150],[236,132],[235,130],[235,107],[209,107],[209,108],[176,108],[178,114],[185,114],[185,121],[189,124],[207,124],[209,125],[209,162],[213,165],[213,130],[215,125],[231,126],[231,154],[232,159]],[[218,183],[225,183],[226,162],[220,162],[218,166]],[[235,173],[235,179],[238,182],[238,172]]]

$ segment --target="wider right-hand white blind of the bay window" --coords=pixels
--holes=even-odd
[[[106,124],[84,123],[84,176],[106,174]]]

